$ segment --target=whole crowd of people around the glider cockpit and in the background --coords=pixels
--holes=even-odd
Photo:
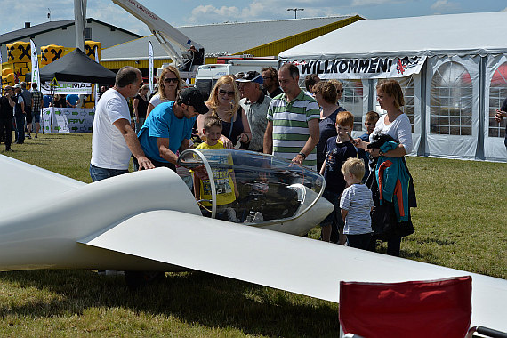
[[[374,251],[380,239],[387,242],[388,254],[398,256],[401,238],[414,232],[410,208],[416,206],[405,161],[412,151],[411,125],[401,110],[405,102],[400,85],[395,80],[379,82],[377,101],[386,113],[367,112],[366,133],[352,138],[354,114],[340,105],[342,84],[311,75],[304,79],[305,90],[299,81],[294,64],[278,71],[263,68],[262,73],[225,75],[206,99],[197,88],[183,88],[178,69],[170,66],[158,78],[157,93],[149,97],[141,71],[121,68],[115,85],[101,89],[96,107],[92,180],[127,173],[133,157],[136,170],[165,166],[179,173],[198,200],[208,183],[199,173],[192,177],[177,167],[182,150],[248,149],[272,154],[323,175],[323,197],[334,205],[334,212],[320,224],[323,241]],[[78,97],[43,98],[36,87],[32,84],[29,95],[24,93],[26,84],[5,87],[0,128],[7,132],[6,149],[11,146],[9,118],[15,119],[15,141],[22,143],[25,119],[28,137],[33,122],[37,135],[41,106],[79,104]],[[504,111],[497,112],[498,120],[507,115]],[[228,177],[230,196],[219,196],[225,206],[237,197],[237,189],[232,189],[234,175]]]

